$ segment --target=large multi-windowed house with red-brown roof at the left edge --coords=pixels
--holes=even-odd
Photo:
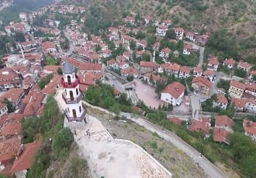
[[[0,69],[0,90],[7,90],[13,87],[21,87],[21,76],[15,70],[5,67]]]

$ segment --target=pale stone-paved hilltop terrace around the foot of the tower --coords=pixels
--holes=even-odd
[[[61,93],[61,90],[57,91],[55,98],[63,111],[66,106],[61,98]],[[88,125],[80,127],[83,129],[76,128],[74,139],[87,159],[93,177],[171,177],[171,173],[140,146],[128,140],[113,139],[97,118],[87,115],[87,121]],[[70,123],[67,124],[67,119],[65,119],[64,125],[70,125]],[[71,129],[74,129],[74,125]],[[87,129],[91,136],[86,134]]]

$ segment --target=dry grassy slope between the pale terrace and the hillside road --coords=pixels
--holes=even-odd
[[[206,177],[182,150],[146,128],[130,121],[116,121],[112,116],[92,108],[88,108],[88,113],[97,117],[114,138],[129,139],[140,145],[170,170],[174,177]]]

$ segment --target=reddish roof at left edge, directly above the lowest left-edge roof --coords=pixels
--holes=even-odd
[[[8,122],[2,127],[2,136],[22,135],[22,124],[20,122]]]

